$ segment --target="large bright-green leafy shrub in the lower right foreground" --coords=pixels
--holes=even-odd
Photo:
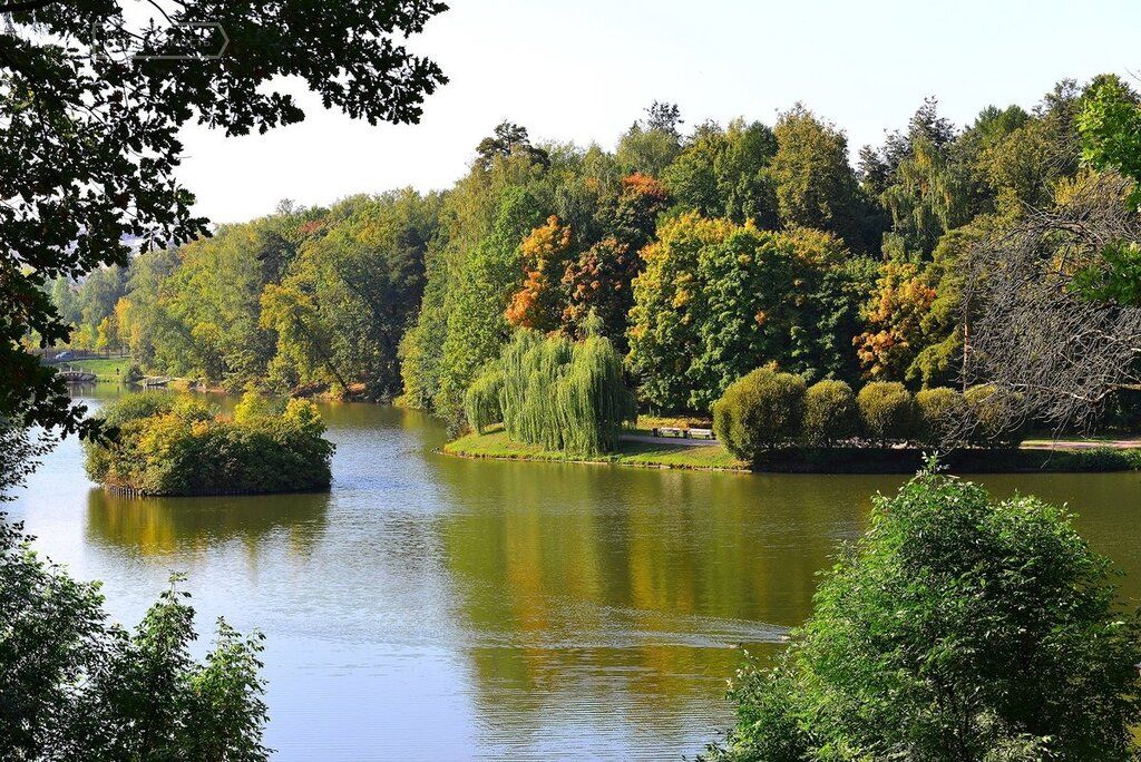
[[[713,757],[1135,759],[1141,625],[1065,510],[922,472],[853,551]]]

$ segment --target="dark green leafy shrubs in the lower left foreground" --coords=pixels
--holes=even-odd
[[[260,634],[219,619],[195,660],[177,577],[128,633],[108,622],[98,583],[73,579],[30,540],[0,513],[0,759],[269,757]]]

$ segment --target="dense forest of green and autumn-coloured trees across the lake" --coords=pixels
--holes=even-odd
[[[1111,75],[1063,81],[963,128],[929,99],[856,167],[844,131],[801,104],[772,125],[687,127],[656,103],[613,152],[504,122],[444,192],[283,202],[50,289],[73,346],[129,349],[154,373],[399,397],[452,422],[519,329],[596,326],[659,413],[707,414],[767,364],[957,387],[972,244],[1097,173],[1078,115],[1107,82],[1134,97]]]

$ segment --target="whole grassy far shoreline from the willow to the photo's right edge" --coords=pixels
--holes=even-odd
[[[922,467],[920,449],[814,448],[774,451],[755,467],[734,457],[721,445],[649,444],[622,441],[620,451],[598,457],[574,457],[525,445],[503,431],[470,433],[444,445],[444,452],[462,457],[517,461],[613,463],[648,468],[777,473],[914,473]],[[958,473],[1079,472],[1141,470],[1141,449],[962,449],[946,455],[944,463]]]

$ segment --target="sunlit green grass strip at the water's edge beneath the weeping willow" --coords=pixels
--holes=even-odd
[[[444,452],[467,457],[578,461],[682,469],[748,470],[745,463],[730,455],[721,445],[703,446],[680,443],[677,445],[654,445],[640,441],[623,441],[617,453],[600,455],[598,457],[575,457],[566,453],[545,451],[539,445],[524,445],[513,441],[503,431],[493,431],[485,435],[469,433],[466,437],[444,445]]]

